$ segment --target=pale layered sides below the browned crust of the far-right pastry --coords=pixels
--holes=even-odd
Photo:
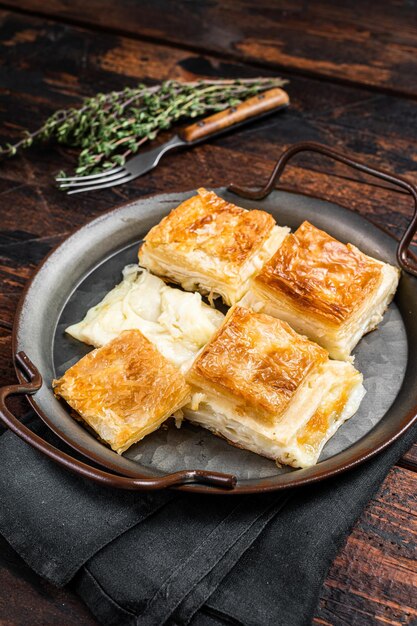
[[[381,322],[397,289],[398,270],[387,263],[381,265],[381,281],[374,294],[360,302],[355,313],[340,325],[320,322],[317,317],[309,315],[307,309],[300,312],[281,293],[258,283],[252,283],[240,304],[287,322],[298,333],[328,350],[333,359],[348,359],[361,337]]]

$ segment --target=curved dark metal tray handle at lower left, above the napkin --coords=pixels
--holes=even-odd
[[[19,370],[28,378],[27,382],[16,385],[8,385],[0,388],[0,421],[5,424],[18,437],[26,443],[43,452],[47,457],[62,465],[73,473],[89,478],[96,483],[119,489],[136,491],[150,491],[177,487],[189,483],[203,483],[220,489],[233,489],[236,485],[236,477],[231,474],[208,472],[206,470],[182,470],[173,474],[167,474],[158,478],[127,478],[96,469],[72,458],[70,455],[55,448],[47,441],[33,433],[22,424],[7,408],[6,400],[12,395],[33,395],[42,387],[42,376],[39,370],[24,352],[16,355],[16,364]]]

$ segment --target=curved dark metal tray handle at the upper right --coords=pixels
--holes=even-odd
[[[417,187],[401,176],[394,176],[393,174],[390,174],[385,170],[376,169],[374,167],[370,167],[369,165],[365,165],[365,163],[362,163],[361,161],[351,159],[342,152],[337,152],[336,150],[332,150],[322,144],[314,142],[302,142],[290,146],[289,148],[287,148],[287,150],[285,150],[285,152],[281,154],[278,161],[276,162],[276,165],[268,182],[264,187],[254,190],[250,189],[249,187],[240,187],[238,185],[231,184],[228,187],[229,191],[232,191],[233,193],[237,194],[238,196],[242,196],[243,198],[249,198],[251,200],[262,200],[269,193],[271,193],[276,181],[280,179],[281,174],[283,173],[288,161],[299,152],[318,152],[319,154],[323,154],[324,156],[327,156],[335,161],[344,163],[345,165],[348,165],[355,170],[359,170],[360,172],[364,172],[365,174],[369,174],[371,176],[375,176],[376,178],[380,178],[381,180],[385,180],[392,185],[401,187],[401,189],[404,189],[412,196],[412,198],[414,199],[414,215],[398,244],[397,261],[399,266],[403,270],[417,277],[417,265],[415,263],[411,263],[409,255],[409,246],[417,231]]]

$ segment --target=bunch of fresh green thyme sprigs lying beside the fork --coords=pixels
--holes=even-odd
[[[0,157],[54,139],[81,148],[77,174],[100,172],[123,165],[146,141],[180,119],[221,111],[285,82],[280,78],[167,80],[153,87],[138,85],[97,94],[85,99],[80,108],[57,111],[38,130],[25,131],[17,143],[0,146]]]

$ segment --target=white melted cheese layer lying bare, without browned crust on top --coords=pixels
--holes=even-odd
[[[138,265],[128,265],[123,281],[66,332],[98,348],[124,330],[138,329],[163,356],[186,371],[223,319],[200,294],[168,287]]]

